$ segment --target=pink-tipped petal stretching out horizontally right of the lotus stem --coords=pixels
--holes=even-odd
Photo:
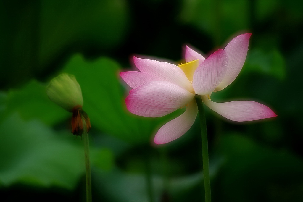
[[[277,116],[267,106],[254,101],[216,103],[206,96],[201,96],[201,98],[209,108],[232,121],[254,121]]]

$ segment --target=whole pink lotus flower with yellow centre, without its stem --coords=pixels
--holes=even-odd
[[[188,46],[181,65],[134,57],[140,71],[121,72],[133,89],[125,99],[128,111],[145,117],[165,116],[186,106],[179,117],[162,126],[155,135],[156,144],[165,144],[185,134],[194,123],[198,108],[195,94],[213,111],[232,121],[253,121],[277,116],[270,108],[254,101],[216,103],[212,92],[220,91],[238,76],[248,51],[251,34],[232,39],[224,50],[204,58]]]

